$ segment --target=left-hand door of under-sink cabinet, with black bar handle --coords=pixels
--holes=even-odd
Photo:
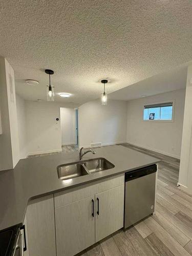
[[[95,243],[93,203],[94,196],[55,209],[57,256],[74,255]]]

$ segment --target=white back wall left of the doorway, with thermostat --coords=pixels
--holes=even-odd
[[[61,151],[61,102],[25,101],[29,155]],[[59,118],[59,121],[56,121]]]

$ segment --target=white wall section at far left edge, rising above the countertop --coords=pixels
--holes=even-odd
[[[13,168],[19,160],[14,71],[4,57],[0,57],[0,170]]]

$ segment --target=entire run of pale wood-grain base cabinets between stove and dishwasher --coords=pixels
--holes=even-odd
[[[25,255],[72,256],[122,228],[123,208],[124,174],[31,200]]]

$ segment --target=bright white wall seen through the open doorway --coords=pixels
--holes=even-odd
[[[62,145],[75,144],[75,110],[60,108],[60,118]]]

